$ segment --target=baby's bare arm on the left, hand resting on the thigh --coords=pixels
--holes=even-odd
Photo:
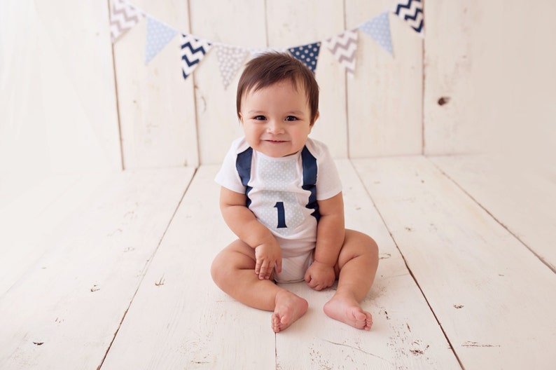
[[[224,221],[237,237],[255,249],[255,273],[260,280],[270,279],[276,266],[277,273],[282,272],[282,249],[270,233],[246,207],[246,196],[221,188],[220,209]]]

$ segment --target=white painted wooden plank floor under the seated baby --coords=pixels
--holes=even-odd
[[[339,160],[380,247],[370,332],[211,282],[218,166],[0,184],[0,369],[553,369],[556,179],[480,157]],[[493,171],[493,168],[496,170]]]

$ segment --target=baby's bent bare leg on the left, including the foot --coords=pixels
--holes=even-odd
[[[259,280],[255,261],[255,250],[236,240],[214,259],[212,279],[237,301],[260,310],[274,311],[272,330],[284,330],[307,312],[307,301],[278,287],[272,279]]]

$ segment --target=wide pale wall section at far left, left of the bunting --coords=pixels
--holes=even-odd
[[[0,172],[120,170],[106,2],[3,1],[1,13]]]

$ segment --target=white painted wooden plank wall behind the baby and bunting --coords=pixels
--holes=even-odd
[[[395,3],[131,2],[180,32],[246,47],[322,41]],[[314,137],[337,158],[554,158],[555,11],[543,0],[427,0],[424,40],[390,14],[394,57],[359,32],[354,77],[323,48]],[[184,81],[179,36],[145,66],[145,34],[144,19],[112,46],[107,0],[0,1],[0,186],[13,174],[221,161],[241,134],[237,76],[224,90],[212,50]]]

